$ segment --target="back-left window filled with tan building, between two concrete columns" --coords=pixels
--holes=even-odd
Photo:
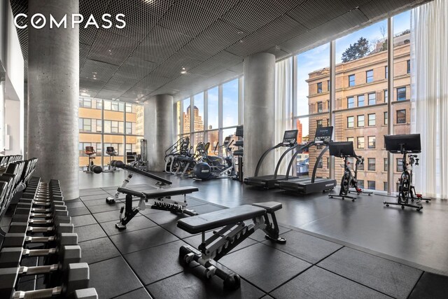
[[[144,136],[142,105],[82,97],[79,99],[79,167],[85,169],[85,146],[93,146],[95,165],[108,165],[107,147],[116,151],[114,160],[125,161],[126,152],[140,153]]]

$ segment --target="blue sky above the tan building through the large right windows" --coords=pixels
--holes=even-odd
[[[358,39],[363,36],[368,41],[376,41],[383,39],[381,34],[381,27],[387,30],[387,20],[377,22],[369,27],[358,30],[340,39],[336,40],[336,63],[342,62],[342,53],[350,46],[350,44],[356,43]],[[403,32],[410,27],[410,11],[405,11],[393,17],[393,34]],[[385,37],[387,31],[385,31]],[[304,116],[309,113],[308,108],[308,74],[311,71],[323,69],[324,67],[330,67],[330,43],[325,43],[322,46],[308,50],[305,53],[297,55],[297,116]],[[302,130],[303,136],[306,136],[309,132],[308,118],[302,118]]]

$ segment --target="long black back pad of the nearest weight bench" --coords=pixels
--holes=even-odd
[[[266,209],[244,204],[235,208],[212,211],[207,214],[182,218],[177,221],[177,226],[186,232],[190,232],[190,234],[197,234],[199,232],[221,228],[221,226],[235,224],[265,214]]]

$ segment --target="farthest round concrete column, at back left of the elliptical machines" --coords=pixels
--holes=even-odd
[[[164,170],[165,151],[174,143],[173,104],[171,95],[155,95],[144,102],[148,170],[153,172]]]

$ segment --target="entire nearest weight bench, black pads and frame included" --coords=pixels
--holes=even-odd
[[[193,235],[202,234],[199,251],[191,246],[181,246],[180,262],[185,265],[195,260],[205,267],[204,274],[207,278],[216,275],[223,279],[224,288],[239,288],[241,284],[239,275],[215,267],[211,260],[218,261],[258,229],[266,233],[266,239],[285,244],[286,239],[279,237],[279,225],[274,214],[279,209],[281,209],[279,202],[260,202],[180,219],[177,221],[178,228]],[[268,215],[271,215],[272,221],[269,221]],[[244,221],[253,222],[246,224]],[[205,232],[216,228],[221,230],[214,231],[211,237],[205,239]]]

